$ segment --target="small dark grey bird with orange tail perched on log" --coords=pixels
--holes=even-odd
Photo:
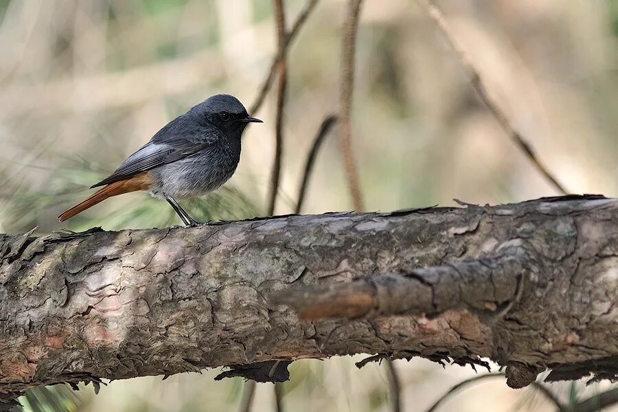
[[[253,122],[262,120],[251,117],[237,98],[225,94],[208,98],[166,124],[115,172],[91,186],[101,189],[62,212],[58,220],[72,218],[108,197],[148,190],[168,201],[185,225],[198,225],[176,199],[207,194],[231,178],[240,161],[240,136]]]

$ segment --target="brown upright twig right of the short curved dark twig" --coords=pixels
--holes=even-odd
[[[347,16],[343,23],[341,38],[341,91],[339,96],[339,121],[341,122],[341,153],[347,175],[347,185],[352,195],[352,203],[356,211],[362,211],[363,198],[358,183],[358,170],[352,152],[352,91],[354,90],[354,56],[356,50],[356,30],[358,16],[361,14],[362,0],[350,0]]]

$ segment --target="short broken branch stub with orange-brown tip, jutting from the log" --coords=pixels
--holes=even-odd
[[[506,250],[499,250],[492,258],[375,275],[344,284],[282,290],[272,301],[295,308],[305,321],[433,315],[455,308],[490,310],[493,317],[503,317],[520,297],[525,277],[538,272],[536,267],[526,267],[532,264],[531,259],[518,247],[520,244],[519,240],[506,243]]]

